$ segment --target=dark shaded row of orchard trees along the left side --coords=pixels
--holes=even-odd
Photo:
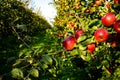
[[[34,43],[36,35],[35,39],[39,38],[38,43],[42,43],[46,29],[49,28],[51,25],[42,16],[28,9],[25,3],[0,0],[0,79],[5,77],[3,80],[12,80],[8,77],[15,68],[14,63],[20,58],[19,52],[29,48],[31,51],[30,44]],[[27,65],[26,62],[23,64]]]

